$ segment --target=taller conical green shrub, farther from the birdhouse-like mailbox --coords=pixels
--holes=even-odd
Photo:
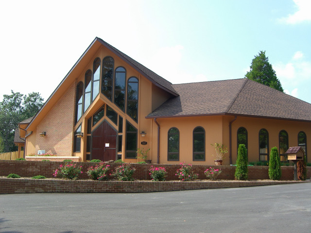
[[[237,167],[235,169],[234,177],[237,180],[247,180],[248,178],[248,158],[247,149],[244,144],[239,145]]]

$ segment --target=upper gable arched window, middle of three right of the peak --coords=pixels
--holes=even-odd
[[[114,102],[121,108],[121,110],[123,110],[123,112],[124,112],[124,96],[125,96],[125,77],[126,77],[126,70],[123,67],[116,68]]]

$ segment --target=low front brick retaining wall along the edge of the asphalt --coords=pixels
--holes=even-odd
[[[14,193],[137,193],[208,188],[234,188],[310,181],[222,181],[222,182],[128,182],[86,180],[32,180],[0,178],[0,194]]]

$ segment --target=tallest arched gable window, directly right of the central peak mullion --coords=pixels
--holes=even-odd
[[[105,57],[103,60],[102,73],[102,93],[112,101],[112,83],[113,83],[114,60],[112,57]]]

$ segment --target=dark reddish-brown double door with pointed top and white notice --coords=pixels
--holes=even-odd
[[[102,161],[116,160],[118,132],[106,121],[103,121],[92,132],[91,159]]]

